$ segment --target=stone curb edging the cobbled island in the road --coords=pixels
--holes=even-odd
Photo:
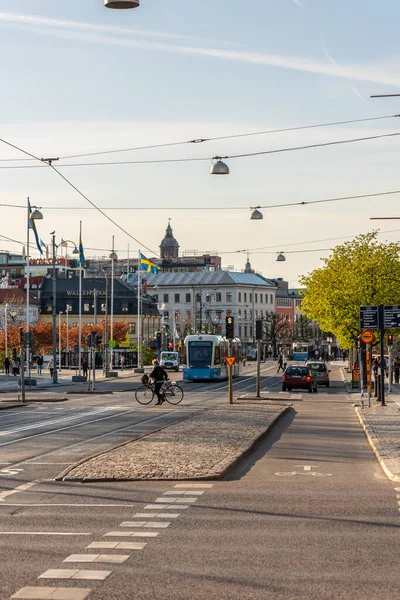
[[[291,408],[292,408],[291,406],[285,406],[283,408],[283,410],[278,415],[276,415],[276,417],[271,421],[271,423],[268,425],[267,429],[262,431],[256,438],[251,440],[248,444],[243,445],[242,449],[238,451],[238,453],[230,460],[229,464],[226,465],[225,468],[223,468],[218,473],[215,473],[212,475],[202,475],[202,476],[198,476],[198,477],[179,477],[179,478],[177,478],[177,477],[151,477],[148,479],[146,479],[146,478],[131,478],[131,477],[118,478],[118,479],[116,479],[114,477],[102,477],[102,478],[77,477],[77,478],[72,478],[72,479],[66,479],[66,476],[68,475],[68,473],[70,471],[72,471],[73,469],[75,469],[76,467],[79,467],[80,465],[88,462],[89,460],[91,460],[92,458],[95,458],[96,456],[101,456],[102,454],[108,454],[111,450],[115,450],[115,448],[127,446],[128,444],[132,443],[132,440],[130,440],[128,442],[124,442],[123,444],[116,446],[115,448],[111,448],[110,450],[98,452],[97,454],[86,457],[86,458],[82,459],[81,461],[79,461],[78,463],[75,463],[74,465],[67,467],[62,473],[60,473],[60,475],[58,475],[57,477],[54,478],[54,481],[67,481],[67,482],[73,481],[73,482],[77,482],[77,483],[94,483],[94,482],[106,483],[106,482],[120,482],[120,481],[146,481],[146,482],[148,482],[148,481],[215,481],[215,480],[221,480],[229,473],[229,471],[231,471],[233,468],[235,468],[237,466],[237,464],[253,450],[254,446],[260,440],[262,440],[262,438],[265,435],[267,435],[267,433],[269,433],[269,431],[276,425],[277,421],[283,415],[285,415],[287,412],[289,412],[289,410],[291,410]],[[209,409],[209,410],[211,410],[211,409]],[[188,417],[187,419],[183,419],[183,420],[186,421],[192,417],[193,417],[193,415]],[[137,442],[153,433],[157,433],[157,431],[162,431],[163,429],[168,429],[168,427],[171,427],[174,424],[175,423],[172,423],[171,425],[166,425],[165,427],[160,427],[160,429],[156,429],[155,431],[147,433],[144,436],[141,436],[140,438],[138,438],[137,440],[134,440],[134,441]]]

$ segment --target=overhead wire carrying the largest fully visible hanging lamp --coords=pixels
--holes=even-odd
[[[305,146],[291,146],[288,148],[278,148],[276,150],[262,150],[260,152],[247,152],[247,153],[242,153],[242,154],[231,154],[231,155],[227,155],[227,156],[214,156],[213,158],[218,159],[218,160],[221,160],[221,159],[233,160],[235,158],[254,158],[256,156],[265,156],[267,154],[280,154],[282,152],[294,152],[294,151],[298,151],[298,150],[310,150],[310,149],[314,149],[314,148],[324,148],[327,146],[352,144],[352,143],[358,143],[358,142],[378,140],[378,139],[383,139],[383,138],[397,137],[399,135],[400,135],[400,132],[385,133],[385,134],[370,135],[370,136],[360,137],[360,138],[351,138],[351,139],[347,139],[347,140],[335,140],[333,142],[324,142],[324,143],[320,143],[320,144],[307,144]],[[0,141],[4,141],[4,140],[0,139]],[[8,143],[8,142],[5,142],[5,143]],[[15,148],[15,146],[12,146],[12,147]],[[29,153],[26,153],[26,154],[29,155]],[[30,155],[30,156],[32,156],[32,155]],[[36,160],[38,160],[40,162],[44,162],[44,163],[46,163],[47,166],[54,168],[53,165],[47,163],[46,160],[44,160],[44,159],[36,158]],[[71,167],[104,167],[104,166],[112,166],[112,165],[114,165],[114,166],[115,165],[146,165],[146,164],[150,165],[150,164],[169,164],[169,163],[188,163],[188,162],[209,162],[210,160],[212,160],[212,158],[210,158],[209,156],[198,157],[198,158],[127,160],[127,161],[98,162],[98,163],[72,163],[69,165],[59,165],[59,168],[66,169],[66,168],[71,168]],[[43,166],[36,166],[36,165],[21,165],[21,166],[17,165],[17,166],[15,166],[14,165],[14,166],[10,166],[10,167],[0,167],[0,169],[41,169],[41,168],[45,168],[45,165],[43,165]],[[56,171],[57,171],[58,175],[62,176],[58,170],[56,170]],[[65,178],[65,180],[67,181],[66,178]]]

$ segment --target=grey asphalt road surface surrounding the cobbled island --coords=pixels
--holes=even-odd
[[[254,369],[235,380],[235,395],[254,391]],[[275,365],[263,366],[262,375],[263,391],[279,391]],[[110,395],[1,411],[0,598],[26,587],[66,600],[88,590],[101,600],[397,598],[400,488],[376,463],[336,367],[333,379],[327,394],[295,402],[225,481],[196,488],[54,477],[89,454],[225,401],[226,383],[184,383],[178,407],[138,406],[132,378],[113,382]],[[146,508],[169,492],[176,509]],[[145,526],[136,528],[138,520]],[[135,542],[147,546],[115,547]],[[129,558],[63,562],[90,553]],[[60,579],[49,569],[84,578]],[[105,580],[88,579],[88,570]],[[45,596],[46,588],[67,591]]]

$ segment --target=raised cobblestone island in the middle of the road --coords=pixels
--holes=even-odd
[[[220,479],[287,406],[217,407],[89,458],[58,479]]]

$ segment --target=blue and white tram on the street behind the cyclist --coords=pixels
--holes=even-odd
[[[225,356],[229,356],[226,338],[208,334],[188,335],[185,339],[183,379],[186,381],[228,379]],[[236,356],[232,375],[237,377],[240,374],[242,361],[242,345],[239,339],[232,340],[232,356]]]

